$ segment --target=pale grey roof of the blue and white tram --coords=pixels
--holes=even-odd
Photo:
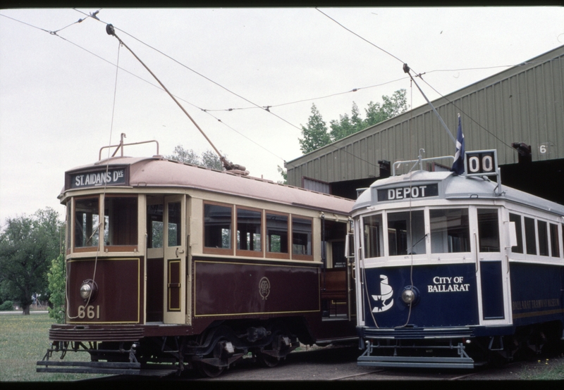
[[[563,205],[503,184],[501,185],[501,194],[496,194],[498,184],[485,176],[454,175],[453,172],[428,172],[425,170],[417,170],[410,174],[376,180],[376,182],[372,183],[369,190],[364,191],[358,197],[355,206],[353,206],[353,211],[378,204],[377,189],[419,186],[432,183],[441,183],[439,186],[439,199],[503,200],[564,216]],[[390,204],[394,202],[397,201],[386,201],[385,203]]]

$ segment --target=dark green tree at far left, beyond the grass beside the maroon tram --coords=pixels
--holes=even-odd
[[[0,284],[3,291],[30,313],[32,294],[48,291],[47,270],[61,253],[59,213],[37,210],[31,218],[8,218],[0,232]]]

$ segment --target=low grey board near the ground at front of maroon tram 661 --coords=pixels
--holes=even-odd
[[[44,366],[44,367],[42,367]],[[71,374],[140,375],[140,363],[125,362],[59,362],[40,360],[37,372],[67,372]]]

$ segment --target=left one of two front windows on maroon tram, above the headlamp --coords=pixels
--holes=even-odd
[[[75,248],[98,246],[99,199],[75,199]]]

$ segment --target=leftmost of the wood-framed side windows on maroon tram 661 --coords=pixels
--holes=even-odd
[[[204,246],[231,249],[231,207],[204,204]]]

